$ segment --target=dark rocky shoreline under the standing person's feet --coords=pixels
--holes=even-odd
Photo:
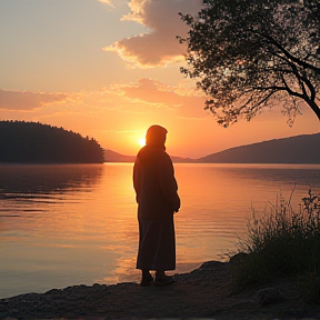
[[[293,280],[239,290],[230,262],[208,261],[176,282],[124,282],[52,289],[0,300],[0,319],[320,319],[320,306],[301,300]]]

